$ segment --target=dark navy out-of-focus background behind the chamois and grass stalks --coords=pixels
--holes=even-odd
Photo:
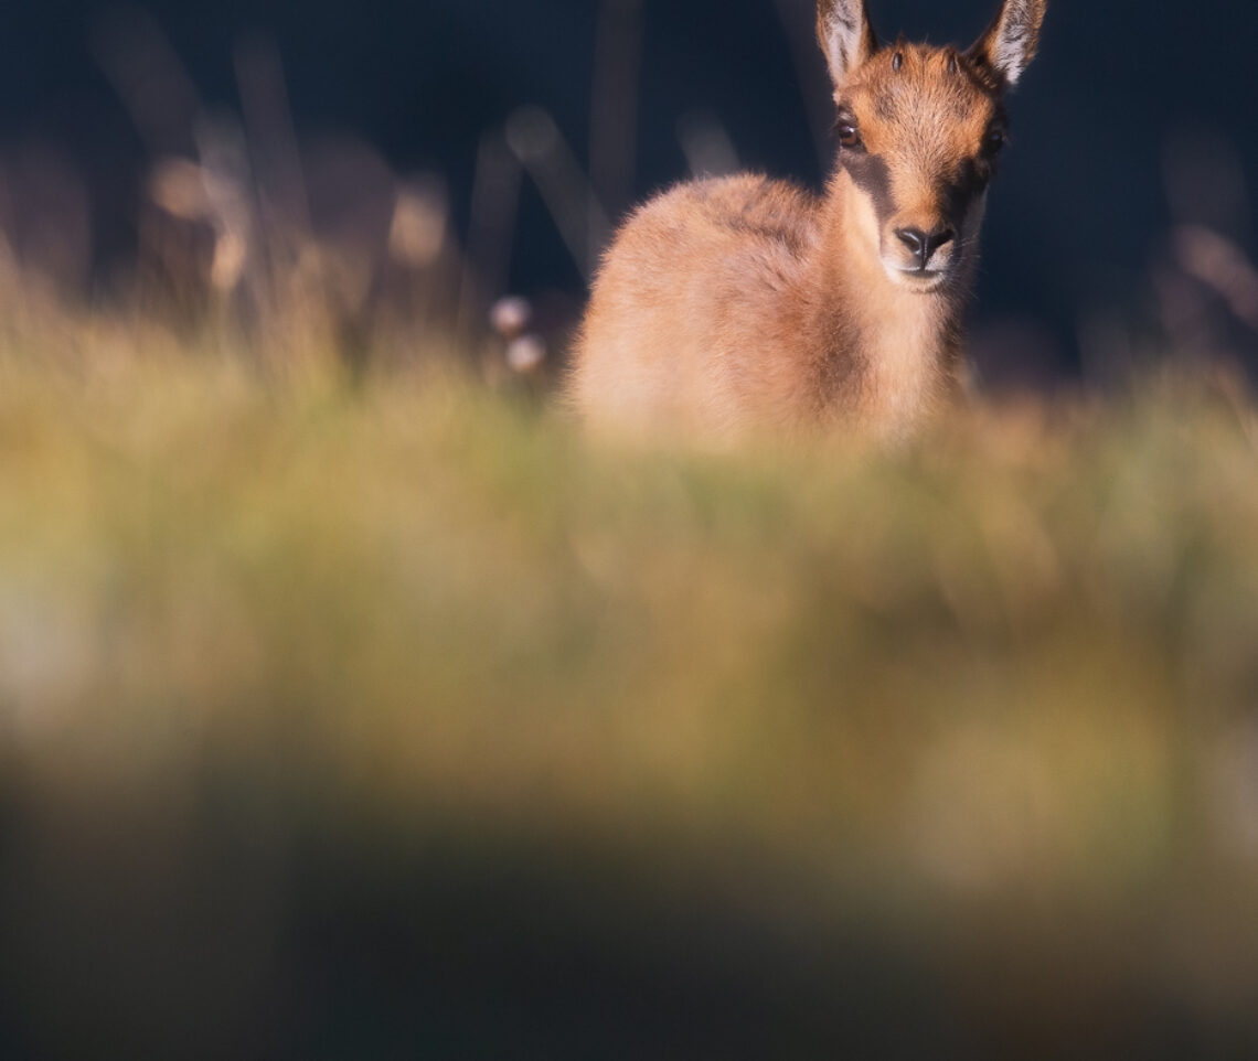
[[[872,16],[883,36],[969,44],[995,6],[876,0]],[[635,140],[637,153],[632,180],[614,175],[600,189],[609,212],[686,176],[677,129],[696,114],[728,133],[740,165],[821,181],[814,132],[828,85],[806,43],[811,0],[152,0],[143,8],[210,109],[239,107],[234,48],[274,43],[298,132],[350,131],[399,173],[440,173],[457,230],[467,224],[481,137],[521,106],[551,113],[587,163],[596,55],[608,62],[610,47],[610,62],[632,59],[635,9],[637,118],[623,99],[614,109],[628,116],[635,137],[625,142]],[[625,29],[600,52],[599,20],[609,10]],[[34,143],[73,160],[91,187],[97,269],[127,253],[152,152],[101,72],[102,25],[116,13],[93,0],[50,0],[0,14],[0,152]],[[991,199],[974,314],[980,346],[985,336],[1013,336],[1033,373],[1087,371],[1098,329],[1112,337],[1115,327],[1164,323],[1157,277],[1172,224],[1205,223],[1248,253],[1255,30],[1258,13],[1235,0],[1049,4],[1040,55],[1011,102],[1014,143]],[[582,293],[527,181],[509,287]],[[1242,349],[1252,343],[1252,328],[1225,323]]]

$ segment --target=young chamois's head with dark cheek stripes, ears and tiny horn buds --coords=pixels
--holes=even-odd
[[[898,285],[930,292],[966,274],[988,182],[1006,138],[1005,92],[1035,54],[1047,0],[1004,0],[967,52],[881,45],[866,0],[819,0],[834,80],[838,181],[854,229]]]

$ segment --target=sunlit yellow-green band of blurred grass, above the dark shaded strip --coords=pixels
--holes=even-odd
[[[277,378],[91,327],[0,352],[19,802],[179,808],[223,774],[229,803],[707,865],[766,909],[803,881],[809,918],[922,945],[1015,924],[1035,962],[1127,969],[1155,934],[1159,991],[1248,997],[1247,397],[618,450],[454,368]]]

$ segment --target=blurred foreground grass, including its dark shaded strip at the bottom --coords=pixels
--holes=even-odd
[[[595,446],[0,352],[6,1056],[1248,1056],[1258,419]]]

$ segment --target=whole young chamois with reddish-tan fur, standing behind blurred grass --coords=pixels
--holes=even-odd
[[[1045,3],[1004,0],[959,52],[879,45],[866,0],[820,0],[839,145],[825,194],[740,175],[640,207],[577,337],[579,414],[713,439],[910,434],[957,386],[1003,99]]]

